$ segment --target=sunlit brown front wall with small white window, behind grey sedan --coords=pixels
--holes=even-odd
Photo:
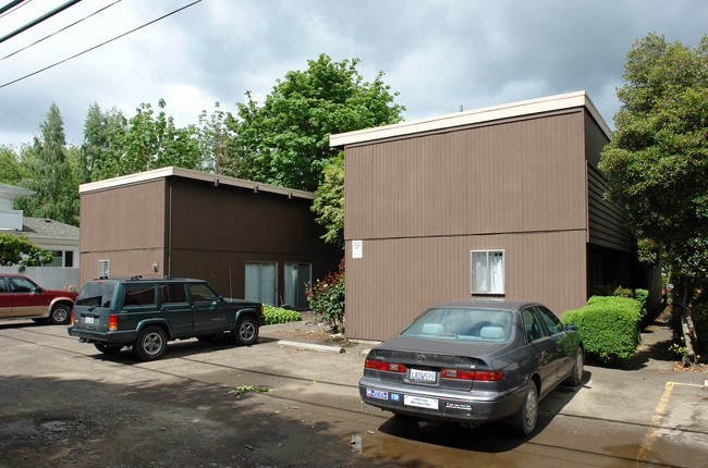
[[[347,335],[383,340],[469,297],[473,249],[505,249],[504,297],[583,306],[585,124],[575,108],[346,146]]]

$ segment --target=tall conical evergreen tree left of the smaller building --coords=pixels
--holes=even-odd
[[[35,136],[32,148],[23,156],[27,178],[22,185],[36,195],[20,198],[16,205],[25,215],[78,225],[77,183],[68,160],[64,122],[56,103],[39,126],[41,136]]]

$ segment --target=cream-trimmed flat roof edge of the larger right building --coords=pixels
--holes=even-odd
[[[552,112],[563,109],[585,107],[593,115],[606,136],[610,138],[610,127],[607,125],[597,108],[585,91],[566,93],[563,95],[548,96],[545,98],[529,99],[489,108],[473,109],[469,111],[437,115],[427,119],[402,122],[393,125],[383,125],[374,128],[330,135],[329,145],[342,148],[346,145],[374,141],[396,136],[414,135],[422,132],[431,132],[475,123],[491,122],[500,119],[510,119],[530,115],[541,112]]]

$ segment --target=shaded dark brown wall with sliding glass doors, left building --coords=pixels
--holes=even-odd
[[[247,261],[277,262],[280,286],[284,262],[313,263],[313,279],[322,278],[342,253],[320,239],[310,206],[305,198],[171,178],[167,274],[205,279],[232,297],[244,297]]]

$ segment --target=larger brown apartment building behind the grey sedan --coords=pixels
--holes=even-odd
[[[425,307],[646,287],[597,169],[610,131],[585,91],[332,135],[344,149],[346,331],[384,340]]]

